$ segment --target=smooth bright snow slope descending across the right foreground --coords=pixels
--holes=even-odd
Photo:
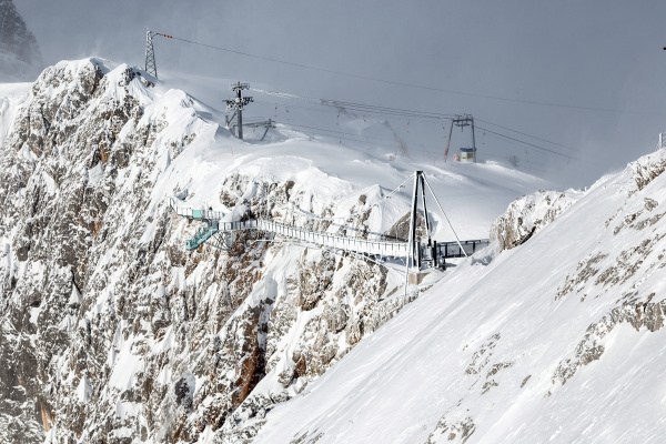
[[[665,168],[664,150],[642,158],[522,246],[462,264],[255,442],[663,442]]]

